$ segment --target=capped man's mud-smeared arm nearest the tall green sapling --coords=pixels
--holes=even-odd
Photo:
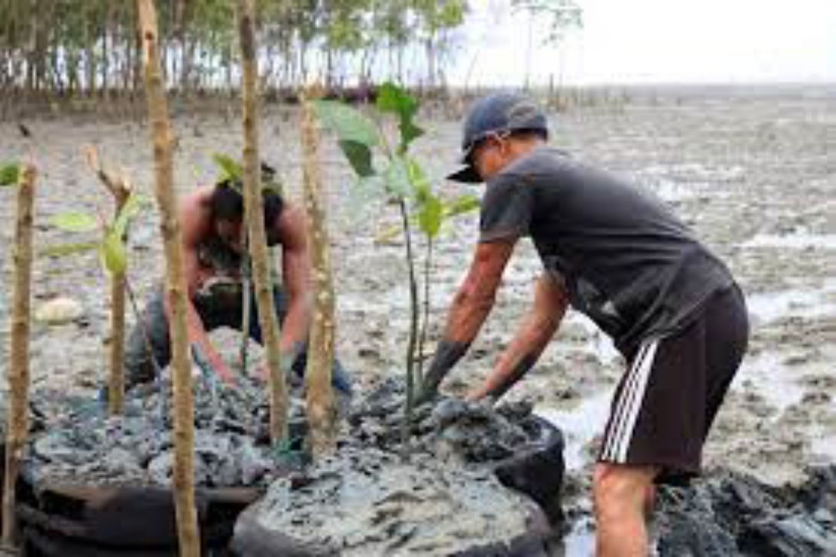
[[[477,246],[470,271],[459,287],[447,316],[444,337],[424,377],[419,401],[435,395],[441,380],[456,365],[476,338],[482,323],[491,312],[516,238],[482,242]]]

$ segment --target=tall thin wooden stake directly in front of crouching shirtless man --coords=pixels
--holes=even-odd
[[[252,283],[256,291],[258,321],[261,325],[270,372],[270,438],[273,443],[288,437],[288,389],[285,383],[279,328],[273,305],[267,233],[264,230],[261,196],[261,164],[258,159],[258,104],[255,45],[255,5],[239,0],[238,31],[241,43],[244,128],[244,220],[247,222]],[[245,333],[246,334],[246,333]]]

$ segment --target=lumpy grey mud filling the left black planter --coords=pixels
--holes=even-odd
[[[38,400],[42,431],[33,436],[27,473],[34,482],[85,485],[171,484],[174,448],[170,391],[130,392],[125,415],[110,418],[94,400],[43,395]],[[268,401],[262,384],[242,380],[238,388],[195,382],[195,481],[208,488],[266,487],[293,464],[290,453],[269,446]],[[303,408],[291,422],[297,444]]]

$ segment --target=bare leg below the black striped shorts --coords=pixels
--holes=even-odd
[[[653,502],[658,469],[598,463],[593,477],[598,557],[645,557],[645,513]]]

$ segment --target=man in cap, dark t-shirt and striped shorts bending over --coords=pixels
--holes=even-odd
[[[486,182],[480,238],[420,399],[434,396],[491,311],[514,245],[543,261],[533,307],[487,380],[496,400],[533,367],[569,305],[627,362],[594,469],[599,555],[648,554],[654,484],[699,473],[702,445],[748,341],[745,301],[726,266],[659,200],[550,149],[545,114],[517,94],[473,104],[465,165]]]

